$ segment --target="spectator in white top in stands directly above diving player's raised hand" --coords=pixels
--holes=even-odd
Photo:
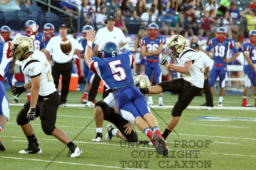
[[[82,9],[84,25],[93,25],[95,20],[93,11],[96,11],[95,6],[91,6],[89,0],[83,0],[82,5],[78,7],[79,11]]]

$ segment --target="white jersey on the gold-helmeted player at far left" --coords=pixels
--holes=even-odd
[[[33,54],[23,61],[21,70],[30,82],[31,78],[40,76],[39,95],[47,96],[56,91],[52,67],[43,52],[33,51]]]

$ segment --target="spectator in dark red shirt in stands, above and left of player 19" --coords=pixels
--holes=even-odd
[[[209,16],[210,15],[210,16]],[[217,21],[215,21],[213,18],[216,17],[216,11],[215,9],[211,9],[210,11],[205,11],[204,12],[204,17],[201,18],[201,22],[200,22],[200,29],[198,30],[198,36],[203,36],[205,34],[205,36],[209,36],[209,34],[211,33],[212,28],[216,29],[217,27],[212,25],[211,23],[215,23],[218,24]]]

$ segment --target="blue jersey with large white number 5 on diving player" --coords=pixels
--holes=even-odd
[[[122,87],[134,85],[132,68],[134,57],[130,51],[111,58],[94,57],[89,68],[100,76],[106,91],[117,90]]]

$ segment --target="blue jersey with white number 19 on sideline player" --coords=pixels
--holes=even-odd
[[[227,58],[230,55],[230,49],[234,53],[239,52],[235,46],[235,40],[231,38],[227,38],[222,42],[219,42],[217,38],[212,38],[209,42],[209,46],[205,50],[210,51],[214,48],[214,62],[227,65],[227,63],[223,62],[222,59]]]

